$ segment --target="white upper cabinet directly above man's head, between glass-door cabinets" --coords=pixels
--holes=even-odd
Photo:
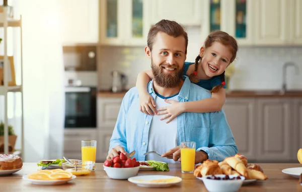
[[[173,20],[182,25],[200,25],[203,2],[200,0],[153,0],[151,6],[152,24],[162,19]]]

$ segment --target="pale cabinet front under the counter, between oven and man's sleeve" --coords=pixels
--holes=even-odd
[[[121,97],[98,97],[97,126],[99,130],[102,130],[102,127],[114,129],[122,100]]]

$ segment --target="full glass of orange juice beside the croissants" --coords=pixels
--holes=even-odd
[[[181,142],[181,172],[193,173],[195,168],[195,142]]]

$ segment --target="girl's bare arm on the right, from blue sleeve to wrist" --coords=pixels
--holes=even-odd
[[[183,112],[206,113],[220,111],[225,101],[225,89],[212,93],[211,98],[183,102]]]

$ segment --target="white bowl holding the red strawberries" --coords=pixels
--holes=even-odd
[[[115,167],[106,167],[103,165],[103,167],[108,177],[112,179],[128,179],[129,177],[133,177],[137,175],[139,170],[139,166],[131,167],[131,168],[115,168]]]

